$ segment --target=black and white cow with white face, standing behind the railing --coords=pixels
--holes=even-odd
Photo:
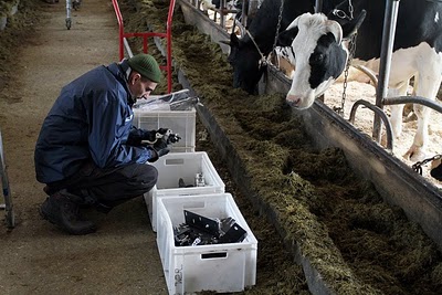
[[[362,64],[378,72],[386,0],[351,2],[355,14],[362,10],[367,11],[367,18],[358,30],[352,64]],[[435,98],[442,81],[441,17],[441,1],[400,1],[388,84],[389,96],[406,95],[408,82],[414,77],[415,95]],[[341,54],[338,51],[324,49],[324,40],[329,39],[329,32],[338,31],[336,25],[336,22],[325,15],[303,14],[281,34],[280,41],[283,45],[291,45],[296,56],[293,61],[296,71],[286,97],[294,106],[299,108],[312,106],[315,97],[333,83],[334,76],[324,73],[339,72],[344,69],[346,61],[341,59]],[[328,48],[341,45],[339,38],[336,38],[338,34],[334,33],[335,41],[332,40]],[[336,63],[323,63],[323,61],[336,61]],[[391,125],[396,137],[402,131],[402,108],[403,105],[391,107]],[[404,156],[411,160],[421,160],[425,157],[431,109],[415,105],[414,112],[418,116],[418,130],[412,146]]]

